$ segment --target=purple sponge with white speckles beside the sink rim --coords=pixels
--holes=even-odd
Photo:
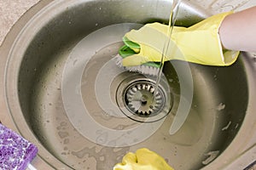
[[[25,170],[38,148],[0,123],[0,169]]]

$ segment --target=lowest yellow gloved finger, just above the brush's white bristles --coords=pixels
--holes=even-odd
[[[136,66],[136,65],[143,65],[144,63],[149,62],[150,60],[148,59],[147,56],[143,56],[141,54],[134,54],[128,57],[125,57],[123,59],[123,65],[124,66]]]

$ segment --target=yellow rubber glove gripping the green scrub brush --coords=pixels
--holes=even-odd
[[[189,28],[175,26],[168,50],[164,53],[165,61],[181,59],[201,65],[233,64],[239,52],[224,50],[218,35],[219,26],[228,14],[232,12],[213,15]],[[132,30],[126,33],[125,38],[136,42],[140,48],[134,48],[137,54],[125,57],[123,65],[160,62],[165,43],[169,40],[167,31],[168,26],[153,23],[143,26],[138,31]]]

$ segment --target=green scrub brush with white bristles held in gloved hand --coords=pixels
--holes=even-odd
[[[144,75],[156,77],[160,71],[160,62],[147,62],[143,65],[135,66],[124,66],[122,64],[122,60],[125,59],[125,57],[137,54],[140,51],[140,45],[136,42],[131,42],[127,37],[123,38],[123,42],[125,42],[125,45],[119,49],[119,54],[115,56],[116,65],[126,71],[139,72]]]

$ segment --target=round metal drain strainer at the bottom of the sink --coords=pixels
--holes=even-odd
[[[155,82],[147,77],[128,77],[119,85],[117,104],[125,116],[137,122],[155,122],[172,109],[172,94],[165,81],[155,89]]]

